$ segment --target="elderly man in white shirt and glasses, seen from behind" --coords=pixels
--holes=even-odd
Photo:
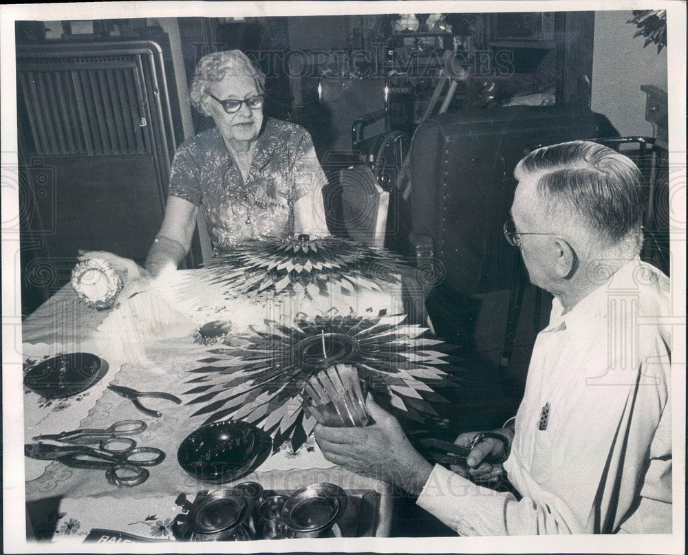
[[[374,425],[318,425],[316,440],[462,535],[670,533],[669,279],[638,257],[641,173],[605,146],[568,142],[530,153],[515,177],[506,239],[555,296],[515,426],[478,443],[459,473],[431,466],[372,399]],[[503,470],[488,455],[508,455]],[[519,499],[480,486],[504,471]]]

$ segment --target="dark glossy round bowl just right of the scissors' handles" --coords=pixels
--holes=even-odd
[[[189,434],[177,460],[197,480],[225,483],[247,475],[270,455],[272,439],[248,422],[212,422]]]

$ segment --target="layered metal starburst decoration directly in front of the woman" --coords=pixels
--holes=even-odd
[[[335,237],[301,235],[247,241],[213,258],[193,280],[220,285],[227,296],[303,294],[316,298],[327,296],[334,284],[344,294],[362,288],[381,290],[399,282],[400,270],[401,261],[387,250]]]

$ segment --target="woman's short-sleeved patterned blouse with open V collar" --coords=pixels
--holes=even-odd
[[[266,118],[244,183],[217,127],[175,153],[169,194],[203,206],[213,253],[293,232],[293,205],[327,183],[308,131]]]

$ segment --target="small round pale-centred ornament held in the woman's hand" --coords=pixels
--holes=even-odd
[[[113,266],[93,258],[78,263],[72,270],[72,288],[87,306],[104,310],[111,308],[124,282]]]

